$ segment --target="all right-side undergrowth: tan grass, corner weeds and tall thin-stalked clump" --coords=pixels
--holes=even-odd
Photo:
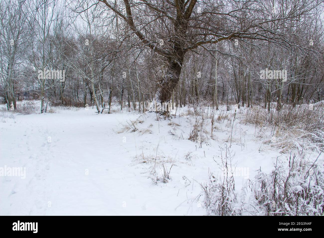
[[[209,183],[202,185],[208,214],[323,215],[324,166],[319,159],[324,147],[323,106],[298,105],[269,113],[255,107],[245,109],[243,117],[238,114],[241,122],[263,128],[258,137],[282,154],[270,173],[260,167],[258,174],[236,192],[231,151],[227,145],[222,148],[220,167],[225,172],[220,176],[211,173]],[[270,128],[270,136],[276,136],[267,140]],[[289,157],[285,151],[290,151]],[[241,169],[241,175],[244,172]]]

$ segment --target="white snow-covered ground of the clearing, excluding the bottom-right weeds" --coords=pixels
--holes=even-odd
[[[1,112],[0,168],[22,167],[26,174],[0,176],[0,215],[205,215],[202,185],[223,173],[221,147],[231,143],[232,167],[241,171],[234,174],[236,191],[258,170],[269,173],[277,157],[287,160],[263,144],[270,133],[239,120],[215,122],[213,139],[188,140],[194,119],[183,115],[187,108],[167,120],[54,110]]]

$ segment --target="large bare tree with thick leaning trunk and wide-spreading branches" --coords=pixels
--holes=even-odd
[[[283,5],[277,4],[279,11],[272,14],[271,1],[210,0],[197,4],[197,0],[124,0],[123,6],[110,0],[98,2],[114,12],[113,18],[117,15],[127,24],[139,39],[138,45],[149,47],[165,61],[166,74],[161,78],[154,98],[158,103],[169,102],[188,51],[234,39],[266,40],[285,46],[294,44],[283,35],[286,26],[282,22],[296,21],[320,3],[290,0],[285,3],[284,10]],[[154,104],[150,110],[154,110]]]

